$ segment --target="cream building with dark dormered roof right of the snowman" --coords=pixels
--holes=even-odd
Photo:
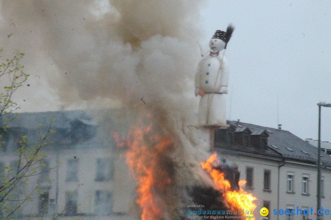
[[[247,181],[243,188],[258,198],[255,213],[266,207],[269,219],[315,219],[317,148],[288,131],[239,121],[228,124],[215,131],[215,149],[219,157],[238,166],[240,179]],[[322,151],[321,161],[321,206],[330,209],[331,157]],[[280,215],[280,209],[294,209],[295,215]]]

